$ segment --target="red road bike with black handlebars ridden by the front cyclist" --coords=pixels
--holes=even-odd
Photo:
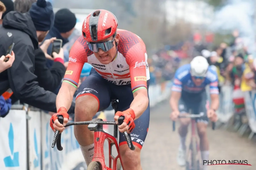
[[[111,105],[115,110],[118,110],[118,102],[116,100],[111,101]],[[58,120],[63,124],[63,117],[59,116]],[[122,170],[123,163],[119,153],[119,147],[117,142],[118,137],[118,125],[122,124],[124,121],[124,116],[118,118],[118,124],[112,121],[103,121],[102,119],[93,119],[91,121],[84,122],[69,122],[65,127],[72,125],[84,125],[88,124],[88,129],[94,131],[94,156],[92,162],[88,165],[87,170]],[[114,136],[103,131],[103,125],[114,125]],[[127,141],[128,147],[131,150],[135,150],[132,144],[131,136],[127,132],[124,132],[125,139]],[[109,143],[109,167],[106,167],[104,158],[104,141],[107,140]],[[57,130],[54,134],[52,148],[57,144],[57,149],[62,151],[61,147],[61,134]],[[117,156],[112,155],[112,147],[115,145],[117,150]]]

